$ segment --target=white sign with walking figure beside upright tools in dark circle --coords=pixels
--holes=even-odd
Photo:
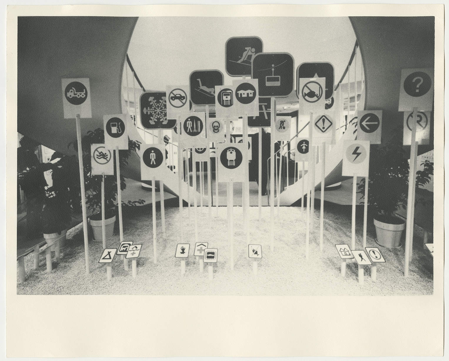
[[[181,122],[181,143],[183,148],[206,147],[206,114],[189,113]],[[179,132],[179,129],[177,129]],[[179,134],[179,133],[178,133]]]

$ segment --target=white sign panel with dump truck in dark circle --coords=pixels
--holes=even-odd
[[[76,114],[92,118],[89,78],[63,78],[61,83],[64,119],[76,118]]]

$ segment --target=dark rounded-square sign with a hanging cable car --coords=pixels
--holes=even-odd
[[[251,78],[259,80],[260,96],[285,97],[295,85],[294,69],[295,61],[288,52],[262,52],[253,58]]]

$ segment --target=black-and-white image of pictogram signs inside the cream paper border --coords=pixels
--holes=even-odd
[[[299,14],[16,17],[15,294],[434,295],[436,18]]]

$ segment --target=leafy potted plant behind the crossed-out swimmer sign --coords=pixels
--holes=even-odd
[[[91,144],[104,143],[105,135],[104,130],[97,128],[96,130],[89,130],[88,134],[83,137],[81,146],[83,148],[83,165],[84,165],[84,183],[86,191],[86,205],[89,213],[92,215],[88,219],[88,223],[92,227],[93,240],[102,239],[101,229],[101,175],[91,174]],[[131,154],[131,151],[140,149],[140,143],[131,139],[128,139],[128,150],[119,150],[119,165],[125,166],[128,164],[127,159]],[[77,151],[76,143],[73,143],[75,150]],[[120,175],[120,189],[123,191],[126,189],[126,182],[123,175]],[[117,214],[117,174],[115,168],[114,157],[114,175],[105,176],[105,223],[106,223],[106,239],[111,238],[114,235],[114,222]],[[142,204],[144,201],[135,201]],[[129,202],[128,202],[129,203]],[[122,202],[123,205],[128,205]]]

